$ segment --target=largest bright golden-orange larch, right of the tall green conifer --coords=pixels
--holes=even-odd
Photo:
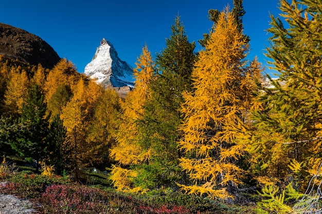
[[[188,193],[227,198],[233,197],[227,186],[242,184],[244,171],[237,163],[245,145],[236,139],[247,126],[247,111],[256,107],[253,91],[261,75],[256,59],[245,59],[248,46],[226,8],[195,63],[193,90],[183,94],[180,165],[191,183],[179,185]]]

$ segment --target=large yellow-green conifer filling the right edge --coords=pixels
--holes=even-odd
[[[271,16],[267,48],[279,79],[270,79],[274,88],[263,88],[258,97],[263,109],[254,113],[249,141],[255,174],[283,184],[291,177],[310,179],[322,161],[322,4],[282,0],[280,10],[283,20]],[[292,163],[301,166],[297,173]]]

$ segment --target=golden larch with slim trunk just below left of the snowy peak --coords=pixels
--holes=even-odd
[[[78,168],[95,161],[95,154],[92,152],[98,145],[94,141],[88,141],[87,135],[93,119],[94,107],[102,92],[101,86],[85,76],[80,76],[74,86],[73,97],[61,110],[60,118],[67,129],[65,143],[72,151],[71,160],[77,179]]]

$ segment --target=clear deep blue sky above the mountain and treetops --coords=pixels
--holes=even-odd
[[[189,41],[198,44],[212,25],[208,10],[221,11],[227,5],[232,7],[232,0],[10,0],[0,5],[0,22],[40,36],[83,72],[103,37],[114,45],[121,60],[134,67],[145,44],[153,57],[165,48],[175,16],[181,16]],[[244,0],[243,6],[244,32],[251,37],[248,56],[257,55],[266,65],[263,53],[269,35],[265,30],[270,27],[270,14],[280,13],[278,0]],[[198,44],[195,51],[200,49]]]

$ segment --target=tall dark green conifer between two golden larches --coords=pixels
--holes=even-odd
[[[175,17],[174,22],[172,34],[166,38],[166,48],[156,55],[158,73],[139,123],[140,146],[151,149],[151,155],[148,163],[140,165],[142,178],[137,180],[149,183],[149,187],[172,185],[182,176],[177,150],[179,109],[182,92],[191,90],[195,44],[189,43],[180,17]]]

